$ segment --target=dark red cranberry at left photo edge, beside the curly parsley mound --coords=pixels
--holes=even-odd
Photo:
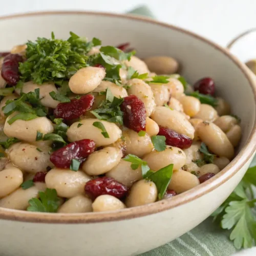
[[[10,86],[16,86],[19,80],[19,62],[23,62],[23,58],[18,54],[8,54],[4,58],[1,75]]]

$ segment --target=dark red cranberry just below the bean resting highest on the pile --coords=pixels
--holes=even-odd
[[[80,99],[72,99],[71,102],[59,103],[53,113],[56,118],[75,119],[90,110],[93,102],[93,95],[84,95]]]

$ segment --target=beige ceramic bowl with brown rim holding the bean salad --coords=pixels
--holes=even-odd
[[[0,50],[37,36],[67,38],[69,31],[103,44],[131,42],[141,57],[169,55],[191,83],[215,79],[217,92],[242,119],[238,155],[218,175],[172,199],[115,212],[40,214],[0,208],[0,254],[8,256],[127,256],[151,250],[198,225],[242,179],[255,150],[255,81],[225,49],[191,32],[125,15],[48,12],[0,19]],[[161,159],[159,159],[161,161]]]

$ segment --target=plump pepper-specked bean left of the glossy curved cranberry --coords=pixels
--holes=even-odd
[[[47,166],[53,166],[50,161],[50,147],[40,148],[28,143],[15,143],[9,150],[9,158],[20,169],[28,173],[45,172]]]

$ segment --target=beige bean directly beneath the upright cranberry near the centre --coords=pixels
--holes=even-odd
[[[123,132],[123,137],[126,142],[126,154],[133,154],[138,157],[142,157],[150,153],[154,148],[148,134],[140,137],[138,133],[129,129]]]

